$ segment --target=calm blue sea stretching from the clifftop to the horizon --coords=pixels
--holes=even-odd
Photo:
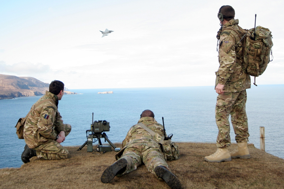
[[[63,146],[81,146],[94,120],[110,122],[106,132],[113,143],[122,142],[129,128],[137,123],[143,110],[150,109],[173,141],[212,142],[217,138],[213,86],[159,87],[125,89],[70,89],[78,94],[64,95],[59,112],[64,123],[72,126]],[[113,91],[113,94],[97,94]],[[284,158],[284,84],[252,86],[247,90],[246,112],[249,119],[249,143],[259,148],[259,127],[265,127],[265,149]],[[0,168],[20,167],[25,141],[17,138],[14,126],[25,117],[40,97],[0,100]],[[231,141],[235,142],[231,126]],[[103,141],[104,142],[104,141]],[[95,144],[94,144],[95,145]],[[86,150],[84,148],[83,150]],[[208,154],[209,155],[209,154]]]

